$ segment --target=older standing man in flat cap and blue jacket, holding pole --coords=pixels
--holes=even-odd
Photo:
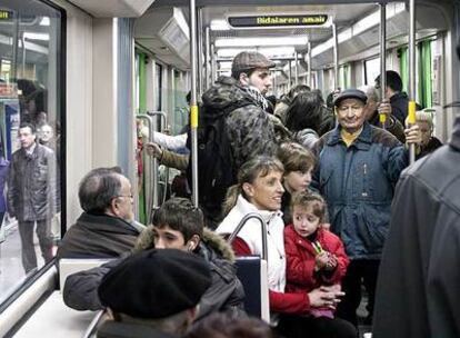
[[[390,132],[366,121],[367,97],[357,89],[333,101],[339,125],[314,145],[318,166],[312,186],[329,207],[331,231],[342,239],[350,266],[337,315],[357,325],[361,279],[369,295],[372,320],[377,272],[387,237],[394,186],[408,166],[408,149]],[[407,143],[420,143],[419,128],[406,130]]]

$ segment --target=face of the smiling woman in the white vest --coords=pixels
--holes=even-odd
[[[282,172],[270,171],[252,183],[243,183],[243,190],[249,201],[259,210],[278,211],[281,209],[281,197],[284,192],[282,187]]]

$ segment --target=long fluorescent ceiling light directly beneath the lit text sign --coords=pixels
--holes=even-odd
[[[217,39],[216,47],[306,46],[308,37]]]

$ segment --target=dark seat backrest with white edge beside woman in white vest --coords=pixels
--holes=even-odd
[[[248,315],[270,322],[267,261],[259,256],[237,258],[237,276],[244,288]]]

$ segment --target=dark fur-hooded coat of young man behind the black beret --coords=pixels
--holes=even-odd
[[[153,228],[142,231],[136,250],[152,248]],[[204,230],[197,255],[210,264],[212,285],[200,301],[199,319],[214,311],[227,311],[231,316],[244,315],[244,290],[236,276],[234,256],[229,245],[217,233]],[[102,308],[98,298],[98,287],[103,276],[122,259],[117,259],[87,271],[69,276],[63,289],[63,300],[76,310],[99,310]]]

